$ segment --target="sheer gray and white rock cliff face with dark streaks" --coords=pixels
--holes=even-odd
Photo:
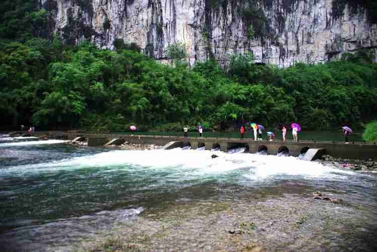
[[[54,31],[69,43],[91,39],[112,48],[122,38],[164,61],[166,48],[183,42],[191,66],[209,57],[223,65],[229,54],[252,51],[257,62],[287,67],[362,48],[377,50],[377,24],[368,20],[367,11],[351,11],[347,5],[342,10],[338,2],[41,0],[41,7],[50,11]]]

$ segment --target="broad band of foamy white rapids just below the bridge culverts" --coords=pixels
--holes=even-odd
[[[13,166],[0,170],[0,174],[8,172],[53,172],[54,170],[90,167],[104,167],[101,172],[137,169],[137,167],[140,167],[140,169],[159,169],[166,172],[187,172],[193,178],[211,174],[224,174],[232,170],[242,169],[243,176],[249,180],[264,180],[281,175],[342,180],[346,179],[347,174],[355,174],[353,171],[335,169],[316,162],[299,160],[296,157],[216,152],[218,157],[211,158],[212,154],[210,151],[181,150],[180,148],[150,151],[114,150],[70,160]]]

